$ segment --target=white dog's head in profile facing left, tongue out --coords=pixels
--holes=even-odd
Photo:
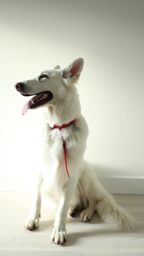
[[[71,101],[76,92],[75,83],[78,81],[83,69],[82,58],[76,59],[65,68],[59,65],[54,69],[42,71],[31,80],[15,84],[15,88],[23,96],[33,96],[22,110],[22,115],[30,108],[46,107]]]

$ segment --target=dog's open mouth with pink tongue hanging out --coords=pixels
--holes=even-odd
[[[35,94],[25,94],[21,92],[21,95],[23,96],[32,96]],[[29,99],[22,110],[22,115],[24,115],[24,113],[29,109],[29,108],[36,108],[48,101],[50,101],[53,98],[53,95],[51,92],[41,92],[36,94],[34,97],[32,97],[31,99]]]

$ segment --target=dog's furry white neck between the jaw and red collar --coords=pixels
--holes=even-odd
[[[81,107],[79,97],[65,103],[59,103],[55,106],[48,106],[45,108],[44,116],[45,122],[53,127],[54,125],[68,124],[74,119],[78,119],[81,114]]]

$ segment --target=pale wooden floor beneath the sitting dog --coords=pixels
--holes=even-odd
[[[26,231],[31,195],[0,192],[0,256],[144,256],[144,195],[115,195],[117,202],[138,220],[133,232],[102,223],[95,215],[90,223],[68,217],[67,243],[55,245],[50,236],[55,210],[42,205],[40,227]]]

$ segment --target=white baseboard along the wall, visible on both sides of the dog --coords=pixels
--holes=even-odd
[[[111,194],[144,194],[144,177],[99,178]],[[31,192],[32,178],[26,176],[0,176],[0,191]]]

